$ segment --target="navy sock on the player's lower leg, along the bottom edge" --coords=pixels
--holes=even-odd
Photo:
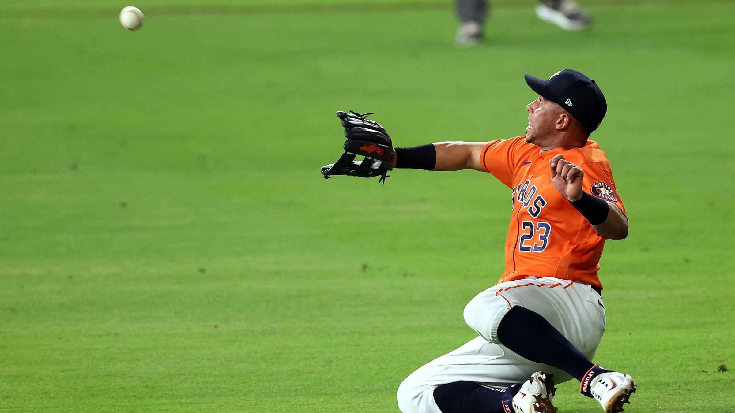
[[[442,413],[503,413],[503,394],[471,381],[455,381],[434,389]]]

